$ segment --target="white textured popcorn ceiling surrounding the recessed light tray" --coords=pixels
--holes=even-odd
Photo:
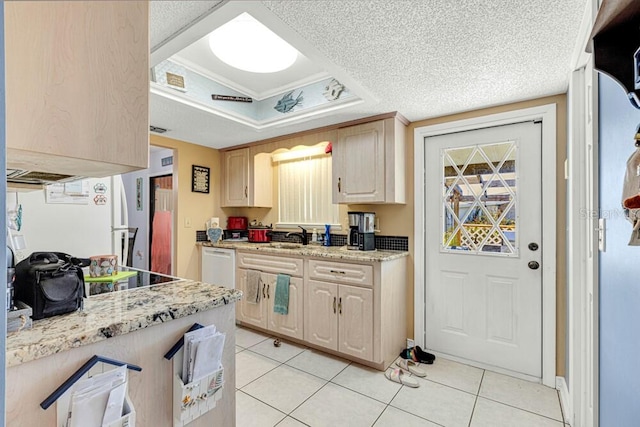
[[[151,124],[170,129],[167,137],[222,148],[389,111],[417,121],[565,93],[587,1],[254,2],[375,101],[257,132],[152,95]],[[218,3],[152,1],[151,45]]]

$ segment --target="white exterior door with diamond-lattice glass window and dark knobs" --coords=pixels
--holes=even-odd
[[[426,347],[542,377],[541,124],[425,139]]]

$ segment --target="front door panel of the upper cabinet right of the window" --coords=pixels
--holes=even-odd
[[[384,121],[338,130],[332,158],[334,203],[385,201],[384,137]]]

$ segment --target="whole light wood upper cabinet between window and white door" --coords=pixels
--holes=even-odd
[[[338,129],[333,203],[405,203],[404,133],[398,117]]]

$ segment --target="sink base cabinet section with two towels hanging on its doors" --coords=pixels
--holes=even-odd
[[[303,301],[304,285],[302,277],[302,259],[289,259],[251,253],[238,254],[236,287],[245,297],[237,304],[236,320],[247,326],[255,326],[278,334],[303,338]],[[249,270],[260,272],[258,292],[260,301],[251,303],[247,299],[247,274]],[[289,274],[288,314],[274,312],[277,274]]]

